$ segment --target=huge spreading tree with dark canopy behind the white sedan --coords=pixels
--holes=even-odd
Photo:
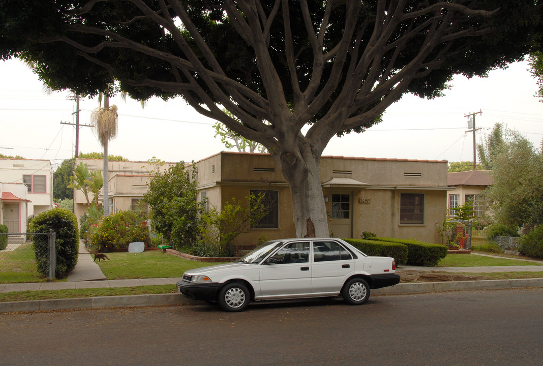
[[[118,80],[136,99],[183,96],[268,149],[296,235],[328,236],[330,139],[370,128],[403,93],[437,97],[454,74],[522,59],[540,13],[540,0],[10,0],[0,56],[26,59],[53,89]]]

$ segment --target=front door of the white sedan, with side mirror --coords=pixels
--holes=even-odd
[[[289,242],[260,264],[262,297],[311,294],[310,243]]]

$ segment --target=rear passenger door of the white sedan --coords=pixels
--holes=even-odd
[[[343,280],[354,270],[355,261],[351,253],[339,242],[313,242],[311,287],[314,294],[339,293]]]

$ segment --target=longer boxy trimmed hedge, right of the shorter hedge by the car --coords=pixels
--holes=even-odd
[[[434,267],[447,255],[446,245],[424,243],[416,240],[376,237],[372,240],[407,245],[407,263],[412,266]]]

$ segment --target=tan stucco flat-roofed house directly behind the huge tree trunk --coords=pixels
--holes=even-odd
[[[264,192],[274,205],[260,225],[236,240],[256,243],[295,236],[291,193],[269,154],[222,152],[195,163],[200,197],[220,209],[227,201]],[[320,161],[323,200],[332,236],[415,238],[441,243],[445,219],[447,162],[407,159],[323,156]]]

